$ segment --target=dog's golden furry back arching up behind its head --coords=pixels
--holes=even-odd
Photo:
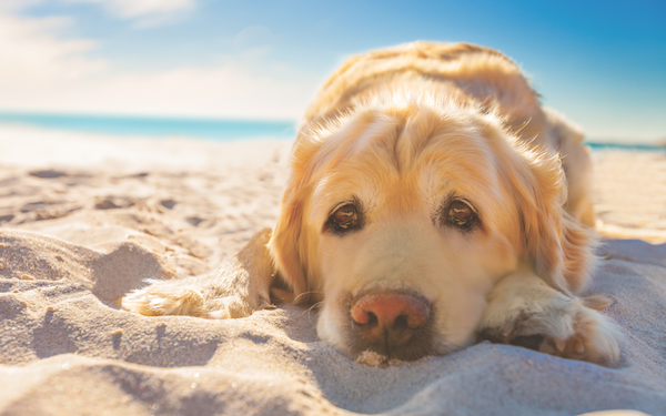
[[[412,42],[347,59],[321,88],[304,122],[335,115],[359,100],[394,89],[445,93],[461,103],[497,111],[518,128],[545,123],[537,94],[512,60],[470,43],[434,42]]]

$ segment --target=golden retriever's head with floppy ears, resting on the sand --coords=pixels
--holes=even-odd
[[[375,100],[302,131],[270,250],[317,333],[349,355],[442,355],[474,341],[521,264],[563,292],[591,264],[557,158],[474,106]]]

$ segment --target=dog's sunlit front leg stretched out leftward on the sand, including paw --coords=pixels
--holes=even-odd
[[[190,315],[216,319],[250,316],[271,306],[271,229],[260,231],[231,261],[211,273],[163,281],[133,291],[121,307],[141,315]]]

